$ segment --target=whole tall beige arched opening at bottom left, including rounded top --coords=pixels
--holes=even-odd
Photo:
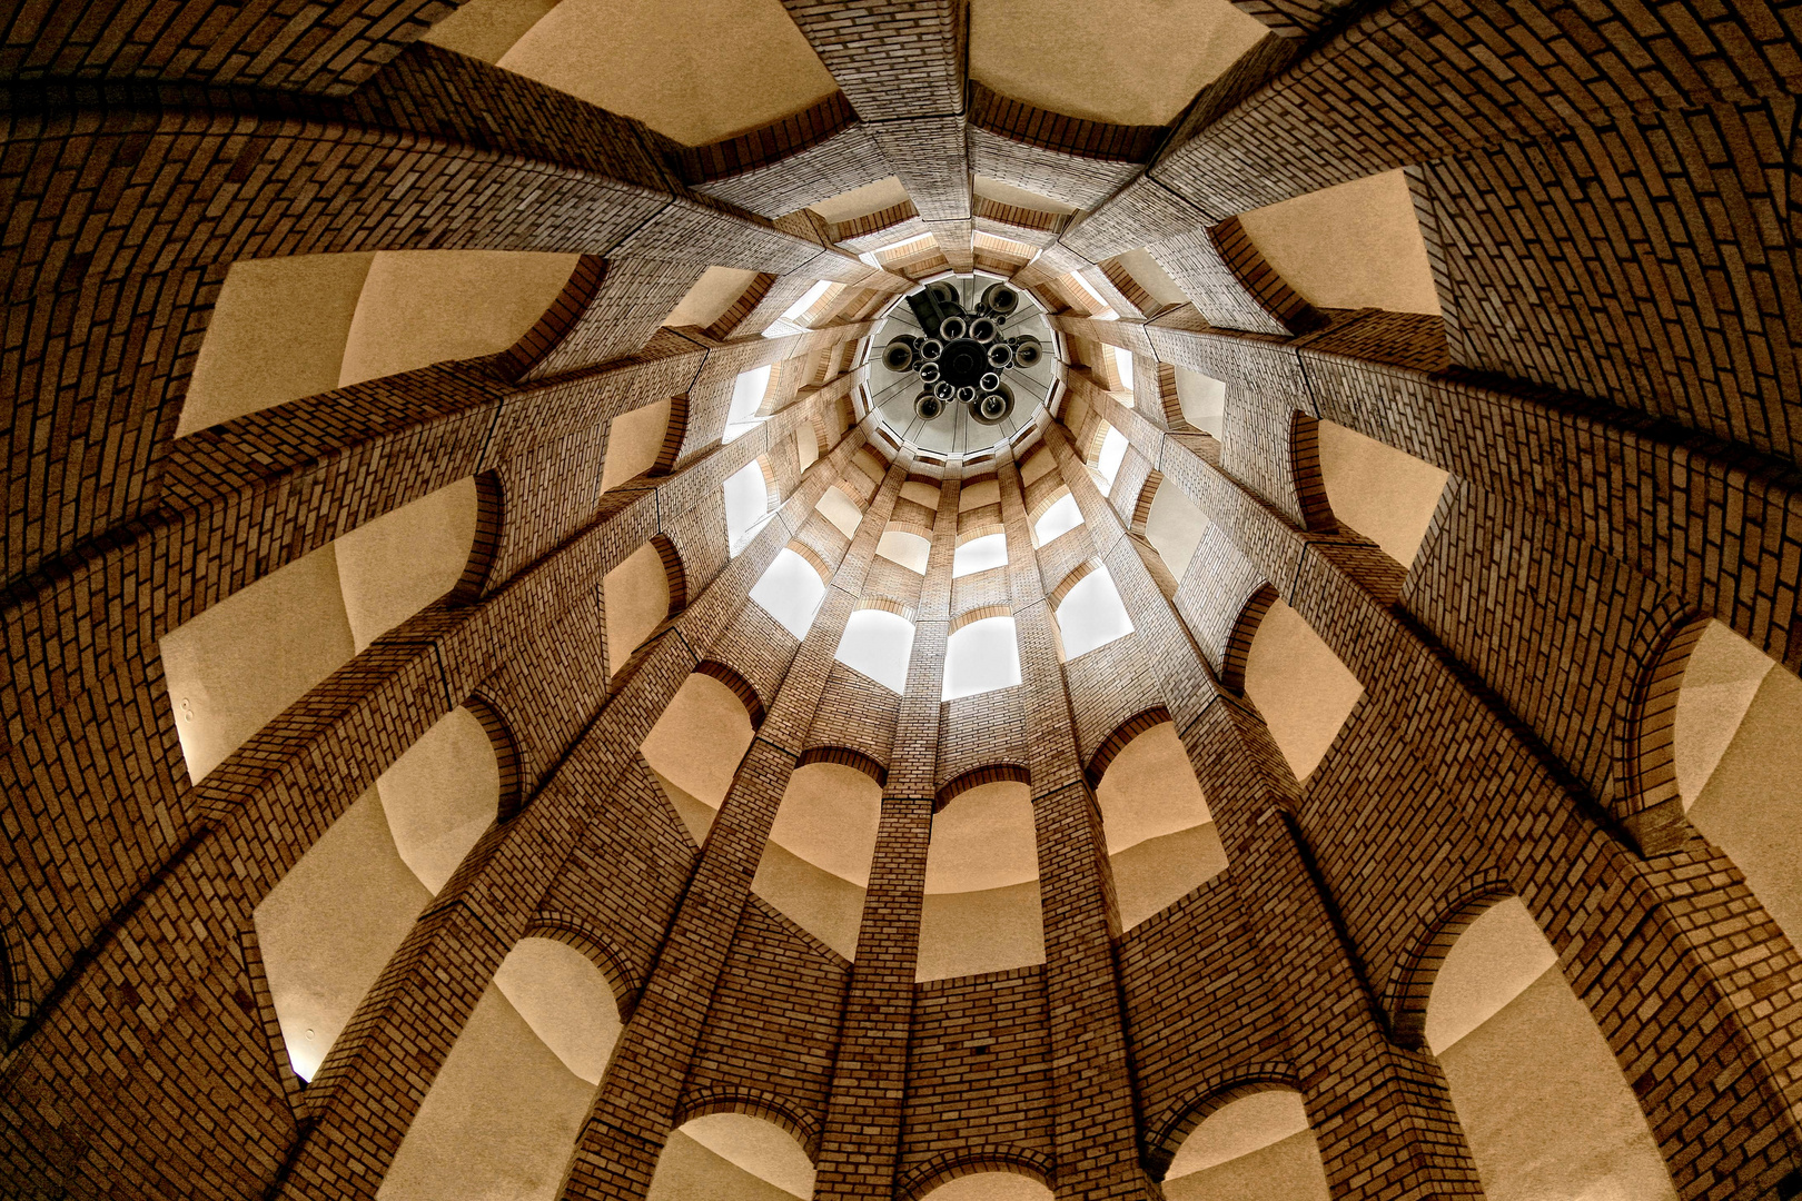
[[[521,938],[445,1055],[377,1196],[555,1197],[618,1037],[600,969],[568,944]]]

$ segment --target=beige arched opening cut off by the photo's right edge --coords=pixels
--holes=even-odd
[[[1802,681],[1710,621],[1678,691],[1672,756],[1692,826],[1802,940]]]

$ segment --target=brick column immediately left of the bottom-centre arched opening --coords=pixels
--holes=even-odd
[[[957,551],[960,483],[939,488],[932,556],[921,585],[914,655],[896,722],[883,816],[863,895],[858,960],[833,1071],[813,1196],[887,1197],[894,1188],[906,1111],[914,972],[932,841],[933,781],[944,646],[950,637],[951,555]]]

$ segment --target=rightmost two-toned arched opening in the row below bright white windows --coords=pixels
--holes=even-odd
[[[1096,801],[1123,931],[1225,871],[1227,852],[1171,722],[1146,729],[1108,762]]]

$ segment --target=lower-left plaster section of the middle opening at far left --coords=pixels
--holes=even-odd
[[[162,636],[175,731],[195,783],[355,654],[330,546]]]

